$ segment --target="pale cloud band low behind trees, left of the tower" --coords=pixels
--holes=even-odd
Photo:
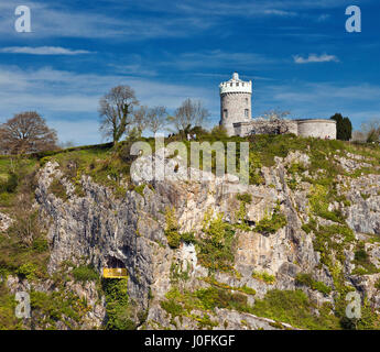
[[[206,87],[167,84],[126,75],[77,74],[44,67],[0,66],[0,122],[14,113],[35,110],[55,128],[62,142],[99,143],[99,98],[117,85],[129,85],[141,105],[177,108],[187,97],[202,99],[213,110],[218,100]],[[217,95],[217,87],[215,89]]]

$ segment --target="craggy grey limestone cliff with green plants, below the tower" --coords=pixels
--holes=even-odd
[[[73,183],[52,160],[39,170],[35,188],[50,245],[48,274],[68,261],[91,265],[99,275],[109,263],[122,265],[129,318],[139,329],[334,329],[351,323],[343,314],[349,290],[361,295],[363,314],[374,309],[376,328],[379,160],[326,154],[339,170],[328,178],[313,157],[307,150],[275,156],[273,165],[257,168],[260,179],[241,193],[227,191],[237,186],[234,179],[169,179],[127,186],[121,197],[87,174]],[[51,191],[54,182],[64,186],[64,197]],[[220,255],[207,252],[213,245]],[[14,276],[8,282],[13,292],[29,285]],[[89,298],[93,319],[82,327],[104,326],[105,297],[91,283],[80,287],[72,288]],[[297,299],[308,320],[275,311],[275,299],[285,310]]]

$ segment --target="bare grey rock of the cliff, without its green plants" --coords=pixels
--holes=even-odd
[[[321,262],[321,253],[314,250],[313,231],[306,233],[303,230],[303,224],[310,221],[307,195],[311,185],[300,180],[296,189],[289,187],[291,176],[287,167],[294,161],[307,165],[308,156],[292,153],[286,158],[276,158],[273,167],[261,169],[264,185],[250,185],[246,189],[252,198],[246,205],[245,215],[250,230],[238,230],[236,233],[234,268],[238,275],[222,272],[215,275],[218,283],[229,287],[254,289],[254,296],[248,294],[248,301],[252,304],[274,288],[301,288],[317,306],[334,304],[333,274]],[[65,186],[67,200],[50,193],[54,179],[59,179]],[[380,234],[380,176],[341,179],[341,185],[345,186],[341,194],[346,195],[350,205],[337,204],[330,207],[337,207],[346,215],[347,224],[356,232],[357,239],[358,233]],[[52,250],[50,273],[57,271],[64,261],[78,264],[83,257],[99,274],[110,263],[119,263],[129,274],[128,295],[138,308],[135,316],[138,311],[148,312],[148,328],[195,329],[196,324],[189,318],[173,324],[160,305],[172,286],[173,263],[180,263],[182,270],[188,273],[189,278],[183,285],[189,289],[206,287],[203,278],[208,275],[208,270],[198,263],[193,245],[183,243],[177,250],[167,245],[165,211],[167,208],[175,209],[181,232],[192,231],[197,234],[209,209],[215,215],[222,213],[225,221],[238,223],[240,201],[237,195],[226,191],[226,182],[218,179],[205,183],[152,182],[142,195],[127,190],[121,199],[116,199],[110,189],[94,183],[89,176],[82,176],[80,186],[83,194],[77,196],[75,187],[65,179],[57,163],[47,163],[40,172],[35,195],[41,217],[48,227]],[[276,207],[285,216],[286,224],[273,233],[256,232],[254,226],[273,215]],[[329,223],[329,220],[319,220],[321,224]],[[376,243],[372,246],[372,253],[380,253]],[[354,248],[347,252],[347,257],[354,258]],[[354,267],[355,264],[347,263],[343,275],[378,307],[380,299],[373,288],[377,277],[367,279],[370,282],[367,284],[365,277],[351,275]],[[269,283],[252,273],[267,273],[275,279]],[[295,279],[300,273],[311,273],[315,280],[324,283],[332,292],[323,294],[300,285]],[[98,324],[101,312],[95,318]],[[215,328],[220,329],[281,328],[269,319],[227,309],[219,309],[217,317]],[[283,324],[282,328],[290,327]]]

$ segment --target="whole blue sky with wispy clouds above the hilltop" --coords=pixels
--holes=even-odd
[[[29,6],[32,33],[14,30]],[[362,32],[345,30],[359,6]],[[219,120],[218,85],[253,80],[253,116],[380,118],[378,0],[108,0],[0,3],[0,122],[36,110],[62,142],[98,143],[98,100],[135,89],[173,111],[197,98]]]

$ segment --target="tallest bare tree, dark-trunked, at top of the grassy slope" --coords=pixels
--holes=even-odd
[[[134,90],[129,86],[118,86],[99,101],[100,131],[112,138],[116,144],[133,123],[133,107],[138,106]]]

